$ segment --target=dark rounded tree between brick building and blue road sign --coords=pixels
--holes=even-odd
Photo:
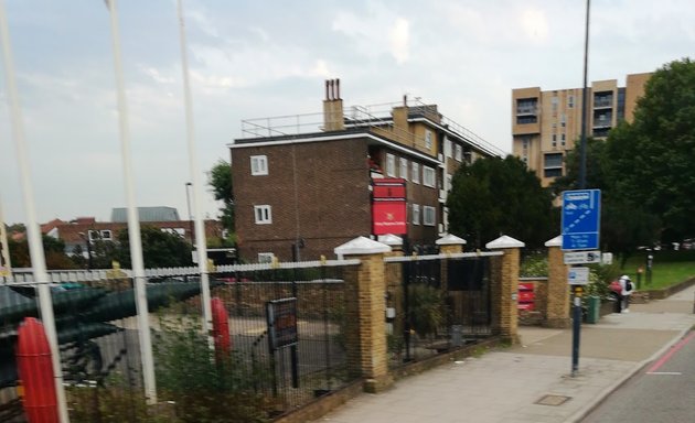
[[[462,165],[447,199],[450,231],[474,248],[501,235],[539,247],[557,235],[552,195],[518,158],[484,158]]]

